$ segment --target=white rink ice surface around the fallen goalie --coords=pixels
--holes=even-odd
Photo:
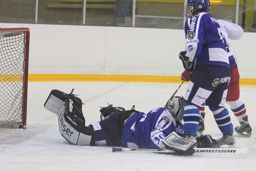
[[[104,171],[149,171],[149,170],[253,170],[256,169],[256,146],[243,156],[172,156],[112,152],[112,147],[75,146],[61,137],[57,115],[44,108],[50,91],[58,89],[79,94],[83,103],[86,125],[100,121],[98,106],[121,106],[147,113],[163,107],[179,84],[124,83],[124,82],[29,82],[27,129],[0,129],[0,170],[104,170]],[[176,95],[185,95],[188,84],[183,84]],[[240,99],[245,103],[249,123],[256,126],[255,86],[241,86]],[[230,111],[234,127],[239,123]],[[205,134],[214,139],[222,136],[212,113],[206,107]],[[248,141],[234,133],[236,147]]]

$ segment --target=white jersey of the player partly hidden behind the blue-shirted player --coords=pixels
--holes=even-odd
[[[243,29],[234,23],[230,23],[223,20],[217,20],[221,31],[222,31],[222,40],[226,46],[226,52],[229,58],[230,68],[237,66],[236,56],[233,49],[230,47],[228,39],[239,40],[243,36]]]

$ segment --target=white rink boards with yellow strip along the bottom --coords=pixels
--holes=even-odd
[[[0,23],[30,29],[29,81],[180,82],[182,29]],[[240,82],[256,85],[256,33],[230,40]]]

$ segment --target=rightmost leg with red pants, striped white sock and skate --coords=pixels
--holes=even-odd
[[[234,115],[238,119],[238,122],[240,123],[240,126],[235,127],[235,131],[239,135],[250,137],[252,129],[251,126],[249,125],[246,108],[243,101],[239,99],[239,78],[240,76],[238,68],[231,68],[231,79],[228,88],[226,103],[229,104],[230,109],[233,111]]]

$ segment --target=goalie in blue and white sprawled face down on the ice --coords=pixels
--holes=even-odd
[[[147,114],[136,111],[134,106],[125,110],[109,105],[100,109],[104,119],[101,117],[100,122],[87,127],[82,114],[82,101],[72,92],[66,94],[52,90],[44,104],[46,109],[58,115],[59,131],[71,144],[164,149],[166,145],[162,140],[172,132],[185,137],[181,123],[182,96],[170,99],[167,109],[159,107]],[[210,145],[213,147],[212,143]]]

